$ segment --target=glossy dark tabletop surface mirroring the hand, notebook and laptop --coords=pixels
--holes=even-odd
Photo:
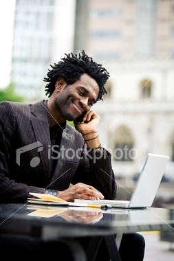
[[[89,209],[87,207],[53,207],[36,204],[0,204],[0,221],[28,220],[39,223],[85,223],[96,226],[174,224],[174,209]],[[6,220],[6,222],[5,222]],[[156,228],[155,228],[156,229]],[[168,227],[166,227],[168,229]]]

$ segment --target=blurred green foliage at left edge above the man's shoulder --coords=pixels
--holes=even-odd
[[[3,102],[3,100],[23,102],[24,98],[14,92],[14,84],[11,82],[5,89],[0,89],[0,102]]]

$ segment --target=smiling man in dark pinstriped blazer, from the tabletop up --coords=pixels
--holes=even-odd
[[[116,198],[111,155],[100,144],[100,117],[91,111],[107,93],[108,78],[85,52],[69,54],[47,73],[49,100],[1,102],[1,203],[24,203],[30,192],[65,201]],[[77,120],[81,115],[83,123]]]

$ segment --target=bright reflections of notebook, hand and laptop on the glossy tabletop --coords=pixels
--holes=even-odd
[[[28,213],[28,216],[35,216],[41,218],[55,218],[61,217],[69,223],[86,223],[105,225],[105,223],[127,222],[127,224],[164,224],[171,219],[171,209],[108,209],[98,210],[87,207],[44,207],[44,206],[28,206],[28,209],[34,210]],[[173,213],[172,213],[173,214]],[[173,219],[173,218],[172,218]]]

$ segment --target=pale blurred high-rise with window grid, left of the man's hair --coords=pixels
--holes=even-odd
[[[11,75],[27,100],[43,97],[50,64],[72,52],[74,10],[74,0],[17,0]]]

